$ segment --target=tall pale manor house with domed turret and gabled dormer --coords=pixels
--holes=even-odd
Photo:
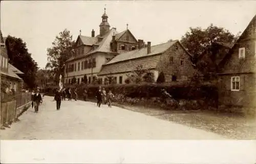
[[[108,15],[105,12],[101,18],[99,35],[95,36],[95,31],[92,30],[91,36],[80,34],[77,37],[74,55],[65,64],[66,84],[71,84],[72,79],[79,84],[84,81],[84,77],[88,83],[92,83],[104,63],[121,53],[138,49],[139,43],[129,29],[118,33],[116,28],[110,29]]]

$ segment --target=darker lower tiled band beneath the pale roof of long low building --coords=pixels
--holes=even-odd
[[[116,64],[103,65],[98,75],[132,72],[138,65],[143,65],[143,69],[156,68],[160,61],[160,55],[138,58],[135,60],[126,60]]]

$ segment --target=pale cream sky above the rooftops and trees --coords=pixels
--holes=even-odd
[[[47,63],[47,48],[68,29],[76,40],[99,34],[106,8],[111,28],[129,30],[152,45],[181,39],[189,27],[211,23],[233,34],[243,32],[256,14],[256,1],[1,1],[3,36],[22,38],[40,68]]]

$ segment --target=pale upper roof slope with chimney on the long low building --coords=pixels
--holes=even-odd
[[[119,54],[108,63],[105,63],[104,65],[125,61],[125,60],[130,60],[130,59],[135,59],[135,58],[140,58],[140,57],[146,57],[146,56],[155,55],[155,54],[160,54],[166,51],[168,48],[170,48],[170,46],[174,45],[174,43],[176,42],[178,42],[178,40],[151,46],[150,54],[147,54],[147,48],[137,49],[127,53]]]

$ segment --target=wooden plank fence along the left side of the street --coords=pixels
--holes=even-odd
[[[31,102],[31,93],[20,93],[17,95],[2,94],[0,125],[8,126],[14,122],[22,113],[23,109],[20,107],[29,102]]]

